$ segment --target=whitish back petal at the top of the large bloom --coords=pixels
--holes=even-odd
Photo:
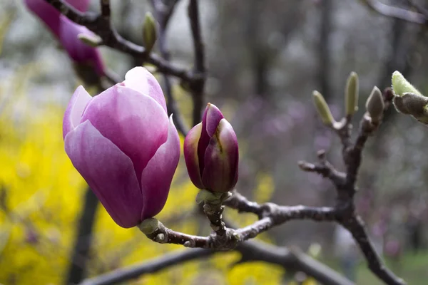
[[[155,76],[146,68],[137,66],[128,71],[125,75],[125,86],[148,95],[158,102],[166,113],[165,96],[162,88]]]

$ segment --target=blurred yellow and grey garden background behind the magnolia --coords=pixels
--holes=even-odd
[[[383,1],[405,6],[407,1]],[[111,0],[113,24],[141,44],[148,1]],[[427,1],[419,1],[426,4]],[[98,1],[91,1],[98,11]],[[390,86],[398,70],[428,94],[427,28],[381,16],[357,0],[200,0],[206,43],[206,101],[223,110],[240,144],[237,189],[257,202],[332,205],[330,182],[300,171],[298,160],[316,160],[316,151],[342,168],[340,142],[317,118],[312,90],[342,115],[347,76],[360,76],[360,111],[373,86]],[[181,0],[167,31],[170,58],[193,64],[193,46]],[[157,47],[155,47],[157,48]],[[108,68],[123,77],[141,63],[101,48]],[[0,283],[67,284],[158,257],[181,247],[156,244],[138,229],[121,229],[102,207],[87,220],[86,183],[63,150],[62,116],[81,83],[66,53],[21,0],[0,0]],[[173,81],[180,112],[190,125],[190,96]],[[92,93],[95,95],[94,93]],[[370,138],[358,180],[358,212],[367,222],[387,264],[408,284],[428,279],[427,128],[390,110]],[[183,158],[183,157],[182,157]],[[189,234],[208,234],[196,218],[198,190],[183,159],[168,202],[158,218]],[[236,224],[255,221],[227,210]],[[82,221],[93,239],[76,254]],[[86,233],[87,234],[87,233]],[[288,222],[260,236],[265,242],[297,246],[357,284],[380,284],[347,232],[334,224]],[[80,249],[79,249],[80,250]],[[190,261],[129,284],[297,284],[293,274],[262,262],[233,265],[235,252]],[[78,278],[78,277],[77,277]],[[316,284],[307,279],[305,284]]]

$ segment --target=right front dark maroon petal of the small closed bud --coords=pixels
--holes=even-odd
[[[228,192],[238,181],[238,140],[230,123],[223,119],[205,152],[202,181],[206,189]]]

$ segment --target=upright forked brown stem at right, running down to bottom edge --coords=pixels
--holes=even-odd
[[[384,110],[387,110],[392,101],[392,91],[390,88],[384,90],[383,99]],[[370,115],[366,113],[360,122],[360,130],[355,143],[350,141],[350,130],[352,130],[350,119],[344,119],[342,122],[345,123],[342,125],[332,125],[332,129],[336,131],[342,141],[342,155],[346,167],[345,180],[338,180],[337,175],[326,175],[326,173],[332,172],[333,168],[330,164],[327,164],[323,152],[320,152],[322,155],[318,155],[320,162],[317,164],[300,162],[300,168],[309,172],[317,172],[329,178],[333,185],[335,185],[337,190],[337,202],[335,205],[335,210],[337,211],[336,221],[350,231],[352,237],[354,237],[362,253],[365,255],[370,270],[386,284],[405,284],[402,279],[395,276],[383,264],[372,242],[370,242],[364,222],[355,212],[355,182],[357,181],[358,170],[362,161],[362,150],[369,136],[373,135],[377,130],[380,121],[372,120]],[[343,177],[343,175],[340,175],[340,177]]]

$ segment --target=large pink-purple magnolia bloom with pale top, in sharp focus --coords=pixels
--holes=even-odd
[[[165,98],[146,68],[92,98],[79,86],[63,119],[68,157],[108,214],[135,227],[165,205],[180,139]]]

